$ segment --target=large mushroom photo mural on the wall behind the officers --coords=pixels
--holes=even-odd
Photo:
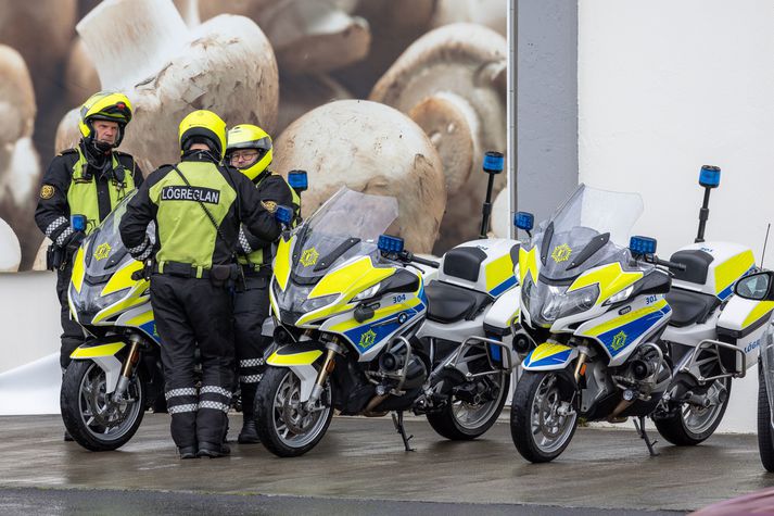
[[[46,2],[55,8],[40,9]],[[41,172],[33,126],[48,163],[54,147],[77,143],[73,108],[100,89],[122,90],[132,101],[135,118],[120,150],[145,173],[178,159],[177,125],[188,112],[211,109],[229,125],[267,129],[275,137],[275,169],[308,169],[305,213],[348,185],[397,194],[399,229],[417,252],[439,254],[478,236],[486,185],[481,160],[487,150],[505,151],[507,0],[0,5],[0,42],[24,47],[16,50],[31,55],[38,74],[34,85],[28,75],[18,83],[24,74],[12,70],[24,61],[0,64],[0,83],[18,83],[3,98],[11,99],[8,105],[0,100],[0,118],[17,112],[0,136],[0,217],[21,242],[22,268],[41,267],[46,247],[33,221]],[[41,33],[48,52],[37,51]],[[43,85],[51,91],[43,98],[38,91],[36,118],[31,88]],[[414,135],[410,142],[406,135]],[[504,185],[502,175],[495,194]],[[500,198],[495,234],[509,224]]]

